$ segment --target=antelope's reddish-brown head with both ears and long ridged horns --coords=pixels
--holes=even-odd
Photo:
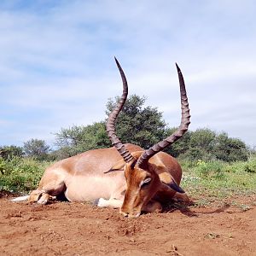
[[[172,133],[169,137],[166,137],[163,141],[154,144],[153,147],[148,148],[142,152],[130,153],[123,143],[120,142],[119,138],[115,132],[115,120],[123,108],[127,95],[128,95],[128,84],[125,79],[125,73],[119,65],[119,62],[115,59],[117,67],[119,68],[119,73],[123,81],[123,94],[112,113],[108,116],[107,121],[107,132],[108,137],[111,140],[113,146],[118,150],[119,154],[123,157],[116,165],[110,170],[112,171],[125,171],[126,180],[126,191],[125,199],[120,212],[125,216],[135,218],[138,217],[143,208],[146,206],[150,207],[150,200],[154,197],[157,191],[161,189],[172,189],[174,191],[183,193],[174,178],[169,173],[163,173],[166,177],[160,180],[160,168],[164,166],[159,166],[155,164],[157,158],[153,159],[154,154],[159,153],[167,146],[176,142],[177,139],[183,137],[183,134],[188,130],[190,121],[189,115],[189,103],[186,94],[185,84],[183,80],[183,74],[176,64],[178,79],[180,84],[180,95],[181,95],[181,106],[182,106],[182,119],[181,124],[177,131]],[[148,205],[149,204],[149,205]],[[160,204],[159,204],[160,205]],[[159,207],[157,204],[152,204],[153,207]]]

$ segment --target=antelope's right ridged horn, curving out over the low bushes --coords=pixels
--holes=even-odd
[[[140,168],[147,166],[148,160],[154,154],[157,154],[167,146],[171,145],[172,143],[176,142],[180,137],[183,137],[183,134],[188,131],[188,127],[190,124],[189,118],[189,102],[186,93],[185,83],[183,79],[183,74],[180,68],[177,66],[177,74],[179,79],[179,86],[180,86],[180,96],[181,96],[181,108],[182,108],[182,118],[181,123],[177,129],[177,131],[173,132],[171,136],[166,137],[166,139],[162,140],[160,143],[154,144],[153,147],[148,148],[143,152],[140,158],[137,160],[137,165]]]

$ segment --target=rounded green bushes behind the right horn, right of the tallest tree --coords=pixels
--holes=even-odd
[[[175,129],[167,130],[170,134]],[[184,160],[223,160],[225,162],[248,160],[250,150],[240,139],[228,137],[210,129],[189,131],[179,141],[167,148],[167,153]]]

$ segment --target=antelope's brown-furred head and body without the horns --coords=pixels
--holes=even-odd
[[[136,160],[143,153],[143,148],[136,145],[126,144],[125,147]],[[61,193],[69,201],[100,198],[99,207],[119,207],[121,213],[132,218],[142,211],[160,211],[161,203],[169,201],[176,193],[166,184],[172,183],[172,179],[179,184],[181,176],[177,160],[163,152],[148,161],[147,170],[136,165],[131,170],[131,163],[125,163],[115,148],[95,149],[49,166],[29,201],[46,204]],[[141,189],[140,184],[146,177],[150,177],[151,182]]]

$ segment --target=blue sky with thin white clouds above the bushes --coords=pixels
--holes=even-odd
[[[31,0],[0,2],[0,145],[55,142],[61,127],[105,119],[121,93],[180,120],[175,62],[190,130],[226,131],[256,145],[256,2]]]

